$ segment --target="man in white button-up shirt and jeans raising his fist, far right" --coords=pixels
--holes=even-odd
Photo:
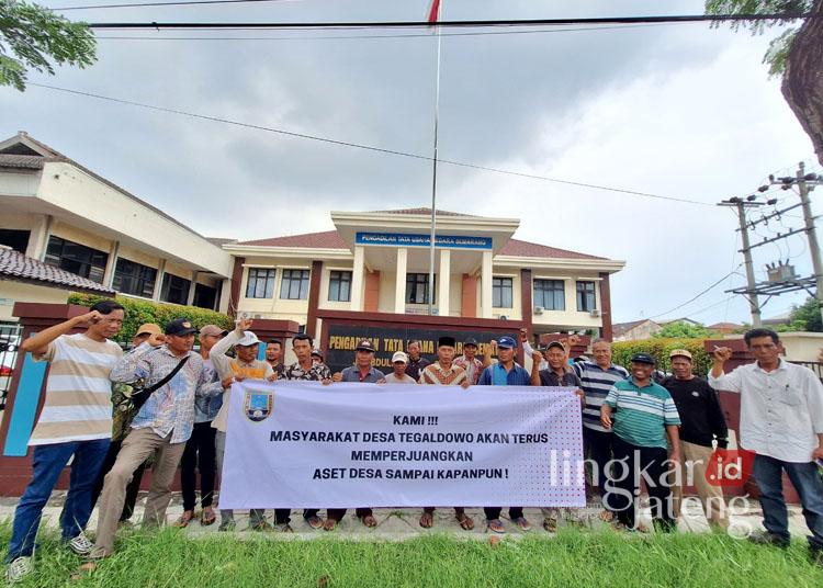
[[[800,495],[812,532],[812,557],[823,565],[823,480],[815,463],[823,461],[823,384],[808,368],[780,359],[782,346],[775,331],[752,329],[744,340],[757,361],[724,374],[723,364],[732,350],[717,348],[709,384],[718,391],[741,393],[740,442],[755,452],[754,476],[766,528],[765,533],[749,539],[789,544],[781,482],[785,470]]]

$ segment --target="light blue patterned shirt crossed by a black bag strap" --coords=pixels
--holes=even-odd
[[[112,382],[143,380],[151,386],[166,377],[183,358],[178,358],[166,346],[157,349],[143,343],[124,357],[112,369]],[[150,428],[157,436],[171,433],[171,443],[183,443],[194,426],[194,397],[212,394],[212,374],[203,370],[203,358],[189,352],[189,361],[143,405],[132,421],[132,429]]]

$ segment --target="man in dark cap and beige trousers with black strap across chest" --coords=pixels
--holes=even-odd
[[[196,332],[189,320],[174,319],[166,326],[162,346],[155,349],[144,342],[111,371],[113,382],[143,380],[147,387],[157,388],[137,411],[117,461],[105,476],[92,559],[106,557],[114,551],[126,485],[151,454],[155,465],[143,524],[158,525],[166,521],[171,483],[194,426],[194,398],[214,392],[211,373],[203,369],[203,358],[192,351]]]

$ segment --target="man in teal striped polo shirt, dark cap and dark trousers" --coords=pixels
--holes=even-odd
[[[634,507],[641,478],[646,483],[655,525],[663,531],[676,527],[667,478],[669,464],[680,461],[680,417],[668,391],[652,381],[654,365],[647,353],[632,355],[630,377],[615,383],[600,407],[600,423],[615,432],[615,461],[625,464],[613,468],[605,501],[617,514],[617,528],[641,532],[646,529],[636,521]],[[612,493],[615,488],[620,491]]]

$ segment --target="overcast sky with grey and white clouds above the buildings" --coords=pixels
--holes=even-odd
[[[702,12],[699,1],[668,1],[665,10],[658,4],[446,0],[442,18]],[[428,0],[293,0],[66,14],[91,22],[394,21],[422,20],[427,5]],[[752,37],[707,24],[584,29],[589,30],[443,37],[440,157],[706,205],[441,165],[438,207],[520,218],[517,238],[625,260],[612,278],[615,321],[666,313],[735,269],[740,274],[661,318],[749,320],[746,303],[723,293],[744,283],[736,218],[713,204],[751,193],[769,173],[793,174],[800,160],[820,171],[779,81],[769,80],[760,63],[776,33]],[[30,79],[431,154],[436,42],[425,31],[99,33],[126,35],[153,39],[100,38],[92,68]],[[328,38],[364,35],[394,37]],[[256,39],[168,38],[181,36]],[[328,230],[331,210],[431,201],[431,163],[425,160],[54,90],[0,89],[0,135],[21,129],[207,236],[245,240]],[[776,195],[786,199],[783,205],[797,201],[792,192]],[[820,214],[821,206],[815,208]],[[797,226],[800,218],[782,223]],[[759,233],[771,230],[786,231],[773,223]],[[811,274],[804,237],[758,248],[759,279],[763,265],[778,258],[792,258],[801,274]],[[803,297],[775,298],[764,316]]]

